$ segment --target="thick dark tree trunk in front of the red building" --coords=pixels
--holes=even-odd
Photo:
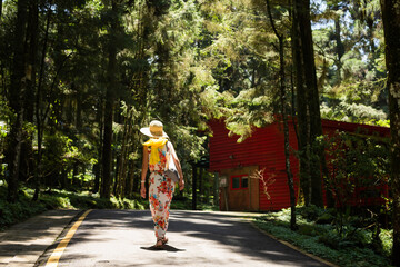
[[[310,20],[310,0],[292,1],[292,47],[297,77],[300,179],[306,204],[323,206],[320,151],[322,135]]]

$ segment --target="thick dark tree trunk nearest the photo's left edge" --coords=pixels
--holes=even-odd
[[[7,161],[9,164],[8,177],[8,200],[17,200],[19,169],[21,159],[22,145],[22,126],[23,126],[23,97],[27,86],[26,76],[26,24],[27,24],[27,0],[19,0],[17,3],[17,23],[13,40],[13,63],[11,69],[11,83],[9,105],[14,112],[16,118],[11,121],[10,139],[8,140]]]

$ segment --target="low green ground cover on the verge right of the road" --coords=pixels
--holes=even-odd
[[[299,207],[297,209],[298,230],[296,231],[290,229],[290,209],[261,216],[254,220],[254,224],[278,239],[286,240],[307,253],[342,267],[390,266],[391,231],[381,231],[379,235],[381,246],[377,248],[371,231],[363,228],[354,229],[348,225],[346,226],[348,235],[346,231],[339,234],[332,221],[320,220],[329,216],[331,215],[328,210],[320,209],[310,220],[309,208]]]

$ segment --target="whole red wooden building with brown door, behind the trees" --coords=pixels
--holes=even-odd
[[[210,171],[218,172],[221,210],[279,210],[290,207],[288,178],[284,170],[283,129],[279,121],[257,128],[252,136],[238,144],[238,136],[229,137],[223,121],[210,122],[213,136],[210,138]],[[298,149],[293,123],[289,123],[290,146]],[[324,135],[336,130],[356,132],[359,128],[366,135],[373,132],[389,137],[389,128],[358,123],[322,120]],[[291,154],[292,155],[292,154]],[[294,178],[294,190],[299,195],[299,162],[290,158]],[[268,187],[270,198],[258,179],[250,178],[254,170],[264,169],[263,179],[274,179]]]

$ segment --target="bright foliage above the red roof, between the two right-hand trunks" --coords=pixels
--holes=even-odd
[[[320,12],[313,40],[323,95],[322,117],[371,125],[386,120],[379,1],[331,1]]]

